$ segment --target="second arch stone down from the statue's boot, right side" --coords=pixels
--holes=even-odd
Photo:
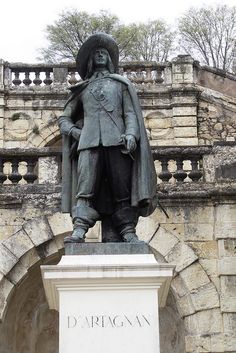
[[[162,227],[158,228],[158,231],[150,241],[149,245],[157,250],[162,256],[167,256],[174,246],[179,242],[179,239],[165,230]]]

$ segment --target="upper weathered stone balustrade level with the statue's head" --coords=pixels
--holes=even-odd
[[[160,84],[168,63],[127,62],[120,63],[119,71],[137,84]],[[55,84],[74,85],[80,80],[75,63],[61,64],[4,64],[4,85],[10,88],[53,87]]]

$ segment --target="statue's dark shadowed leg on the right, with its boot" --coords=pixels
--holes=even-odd
[[[124,242],[140,242],[136,235],[137,209],[131,207],[132,159],[121,153],[119,147],[106,150],[106,164],[109,182],[116,204],[112,221]]]

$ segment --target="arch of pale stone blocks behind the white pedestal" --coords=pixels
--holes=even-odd
[[[182,241],[175,232],[167,231],[160,226],[155,219],[155,213],[149,218],[141,219],[138,231],[141,238],[150,244],[159,261],[176,264],[167,307],[161,311],[161,340],[165,352],[178,353],[183,352],[184,349],[184,331],[187,332],[187,341],[189,341],[192,336],[201,335],[202,323],[207,318],[213,320],[211,322],[214,322],[215,326],[217,325],[217,320],[220,320],[219,298],[214,283],[199,263],[193,249]],[[36,305],[34,320],[31,318],[32,325],[41,325],[41,329],[37,326],[37,330],[35,330],[37,335],[42,334],[42,337],[47,337],[46,331],[51,329],[56,337],[56,330],[50,328],[49,324],[53,314],[49,314],[45,309],[39,266],[42,263],[57,263],[59,261],[63,253],[63,238],[71,230],[72,223],[69,215],[57,212],[51,216],[38,217],[25,222],[17,233],[1,243],[0,314],[3,321],[2,332],[9,326],[9,320],[14,317],[14,308],[17,307],[19,298],[21,298],[21,305],[27,309],[27,290],[24,288],[29,289],[30,281],[34,278],[35,280],[32,281],[34,295],[38,293],[39,297],[37,295],[34,297],[30,290],[28,290],[28,294],[33,295],[33,302],[38,300],[40,307]],[[26,297],[24,297],[24,293]],[[27,316],[27,310],[24,310],[23,317],[25,315]],[[29,312],[28,315],[31,317],[33,313]],[[47,317],[45,322],[49,322],[48,329],[42,326],[41,318],[44,315]],[[25,320],[27,321],[27,319]],[[19,325],[23,325],[20,316],[17,322]],[[211,330],[213,324],[209,324],[209,322],[207,324]],[[33,330],[32,326],[30,327]],[[217,327],[214,329],[217,330]],[[17,340],[17,332],[14,331],[14,335],[14,339]],[[31,347],[30,343],[27,344]],[[34,344],[41,347],[38,338],[35,338]],[[50,349],[46,353],[56,353],[56,350]],[[15,353],[14,350],[9,350],[9,352]],[[20,352],[28,353],[30,350],[25,348]],[[35,352],[40,352],[40,350],[36,349]],[[0,350],[0,353],[3,352]]]

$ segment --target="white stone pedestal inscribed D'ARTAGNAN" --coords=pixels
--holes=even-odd
[[[49,307],[60,315],[60,353],[160,351],[158,306],[172,265],[152,254],[66,255],[41,269]]]

